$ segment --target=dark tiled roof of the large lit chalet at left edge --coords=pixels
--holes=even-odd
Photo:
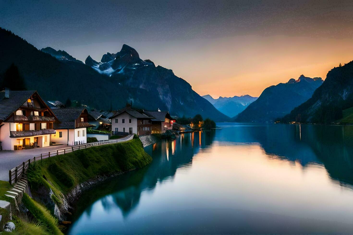
[[[6,119],[16,111],[36,91],[10,91],[9,98],[5,98],[5,91],[0,91],[0,120]]]

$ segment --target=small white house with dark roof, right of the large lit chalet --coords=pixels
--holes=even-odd
[[[69,146],[87,143],[86,128],[92,127],[88,123],[88,111],[85,108],[61,108],[52,110],[60,122],[54,123],[56,130],[52,135],[52,142]]]

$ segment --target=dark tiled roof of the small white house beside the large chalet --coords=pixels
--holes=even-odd
[[[53,113],[61,123],[54,123],[55,129],[74,129],[75,119],[77,119],[84,108],[61,108],[53,109]]]

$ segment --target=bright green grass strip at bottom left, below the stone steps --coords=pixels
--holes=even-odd
[[[48,229],[49,234],[62,234],[62,232],[58,228],[58,220],[50,214],[47,208],[30,198],[26,193],[23,194],[22,202],[29,210],[29,212],[37,219],[37,221],[39,222],[38,225],[41,225],[39,227],[35,224],[26,224],[32,231],[43,231],[44,227]]]

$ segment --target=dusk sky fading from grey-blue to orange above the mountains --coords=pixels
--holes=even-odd
[[[353,60],[353,1],[0,0],[0,27],[78,60],[135,48],[200,95],[259,96]]]

